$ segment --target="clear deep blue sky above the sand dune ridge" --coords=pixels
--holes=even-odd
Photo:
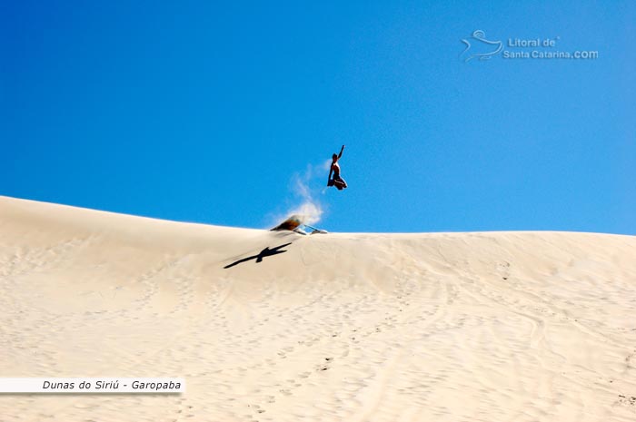
[[[344,143],[327,230],[636,233],[632,0],[220,3],[3,2],[0,194],[262,228]]]

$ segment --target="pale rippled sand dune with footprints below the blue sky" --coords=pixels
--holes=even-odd
[[[247,260],[285,243],[283,253]],[[0,197],[1,421],[634,421],[636,237],[300,236]]]

